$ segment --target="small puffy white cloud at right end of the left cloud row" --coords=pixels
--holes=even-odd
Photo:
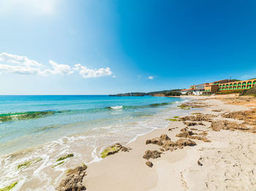
[[[110,71],[110,68],[108,67],[105,69],[88,69],[86,66],[80,65],[80,63],[75,65],[75,70],[79,71],[79,74],[84,78],[106,77],[112,75],[112,71]]]

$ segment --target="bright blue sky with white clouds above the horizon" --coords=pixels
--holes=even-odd
[[[255,0],[1,0],[0,95],[254,78],[255,9]]]

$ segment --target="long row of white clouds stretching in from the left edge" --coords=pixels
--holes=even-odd
[[[67,64],[59,64],[52,60],[49,61],[49,64],[52,66],[51,69],[48,66],[27,58],[26,56],[12,55],[7,52],[0,54],[1,73],[40,76],[60,74],[64,76],[66,74],[72,74],[74,71],[78,71],[79,74],[81,74],[84,78],[105,77],[112,75],[112,71],[108,67],[105,69],[88,69],[86,66],[82,66],[80,63],[78,63],[75,65],[75,67],[71,68]]]

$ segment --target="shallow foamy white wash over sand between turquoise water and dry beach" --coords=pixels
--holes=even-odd
[[[0,188],[6,187],[13,182],[18,182],[15,185],[16,190],[54,190],[67,169],[81,163],[88,165],[102,160],[99,157],[100,152],[109,144],[117,141],[121,141],[121,144],[126,144],[127,142],[134,141],[138,136],[154,130],[154,128],[165,128],[168,123],[165,120],[165,116],[174,116],[178,110],[181,110],[177,109],[176,106],[184,101],[187,101],[187,99],[181,99],[178,102],[173,101],[173,104],[168,106],[169,109],[165,109],[166,112],[159,112],[153,116],[148,116],[146,118],[150,120],[144,121],[141,119],[143,121],[138,121],[138,124],[130,122],[129,124],[119,124],[112,128],[104,127],[100,130],[94,128],[86,134],[80,133],[74,136],[64,136],[47,144],[3,155],[0,160],[0,164],[3,167],[0,169],[2,174]],[[181,110],[181,112],[187,111]],[[118,113],[118,110],[113,110],[113,113]],[[158,117],[160,118],[158,119]],[[138,125],[141,127],[138,127]],[[118,133],[117,130],[119,128],[123,130]],[[95,133],[96,136],[99,136],[99,139],[95,139]],[[136,136],[128,133],[135,134]],[[59,157],[69,154],[74,154],[74,157],[61,161],[64,164],[56,161]],[[27,166],[23,165],[26,163],[28,163]],[[23,165],[23,168],[18,168],[19,165]]]

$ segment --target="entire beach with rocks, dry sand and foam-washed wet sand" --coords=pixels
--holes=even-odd
[[[1,187],[17,182],[13,190],[255,190],[255,99],[184,96],[143,122],[144,128],[132,122],[128,130],[99,129],[97,147],[89,145],[94,129],[12,153],[1,160]],[[111,145],[112,152],[105,152]]]

